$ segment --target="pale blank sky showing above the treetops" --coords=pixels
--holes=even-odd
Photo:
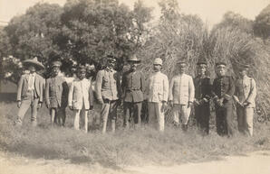
[[[49,2],[64,5],[66,0],[0,0],[0,24],[9,22],[14,15],[24,14],[27,8],[38,2]],[[132,8],[137,0],[119,0]],[[159,17],[160,0],[143,0],[146,6],[154,7],[154,18]],[[254,20],[270,0],[178,0],[180,11],[184,14],[198,14],[211,27],[219,23],[223,14],[233,11]]]

